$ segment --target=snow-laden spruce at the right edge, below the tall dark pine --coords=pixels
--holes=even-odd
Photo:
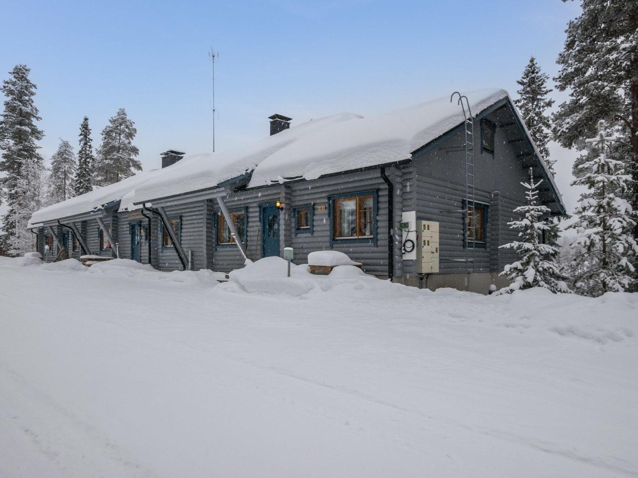
[[[572,247],[579,249],[572,267],[577,291],[589,296],[626,291],[635,278],[632,259],[638,243],[632,237],[636,221],[632,205],[621,197],[632,183],[625,175],[623,162],[613,159],[616,136],[599,124],[596,138],[587,140],[595,158],[580,166],[584,171],[572,184],[586,185],[575,210],[578,221],[570,226],[578,234]]]

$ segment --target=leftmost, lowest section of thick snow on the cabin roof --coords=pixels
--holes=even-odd
[[[91,212],[113,201],[119,201],[126,193],[133,191],[135,187],[152,178],[156,171],[144,171],[120,182],[94,189],[86,194],[40,209],[31,216],[29,227],[41,222]]]

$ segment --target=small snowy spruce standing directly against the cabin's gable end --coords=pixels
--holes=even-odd
[[[521,183],[527,189],[526,197],[528,205],[519,206],[514,212],[524,214],[520,221],[508,222],[511,229],[519,231],[520,241],[503,244],[503,249],[515,249],[521,257],[520,261],[505,266],[500,275],[507,275],[511,284],[503,287],[498,294],[512,293],[530,289],[531,287],[543,287],[554,293],[571,291],[565,280],[567,277],[561,272],[555,259],[558,249],[553,245],[540,242],[543,233],[556,228],[553,222],[542,221],[542,217],[549,214],[547,206],[537,205],[537,187],[542,180],[534,182],[533,171],[530,168],[530,182]]]

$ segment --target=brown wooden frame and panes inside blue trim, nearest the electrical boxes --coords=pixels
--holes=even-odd
[[[332,199],[334,240],[373,238],[375,220],[374,194],[353,194]]]

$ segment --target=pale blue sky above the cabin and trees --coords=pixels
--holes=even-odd
[[[211,150],[211,46],[219,52],[217,146],[235,149],[267,135],[272,113],[298,124],[454,90],[503,87],[514,96],[531,54],[556,73],[579,3],[5,1],[1,11],[0,79],[17,63],[32,69],[43,155],[58,138],[77,145],[84,115],[98,145],[123,107],[150,169],[169,148]]]

